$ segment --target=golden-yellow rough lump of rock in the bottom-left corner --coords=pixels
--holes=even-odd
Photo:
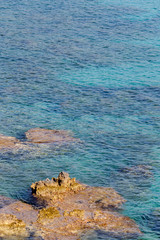
[[[0,214],[0,237],[27,237],[26,224],[12,214]]]

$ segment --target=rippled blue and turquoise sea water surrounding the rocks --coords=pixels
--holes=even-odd
[[[114,187],[138,239],[159,239],[159,64],[159,0],[0,1],[0,133],[66,129],[82,141],[1,152],[0,194],[27,200],[32,182],[68,171]]]

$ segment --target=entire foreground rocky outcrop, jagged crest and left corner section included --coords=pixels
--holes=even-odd
[[[140,234],[133,220],[116,211],[125,200],[112,188],[90,187],[61,172],[58,178],[33,183],[31,189],[41,208],[0,197],[0,238],[78,240],[89,230],[122,239]]]

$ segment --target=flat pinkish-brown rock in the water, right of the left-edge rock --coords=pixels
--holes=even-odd
[[[28,130],[26,138],[31,143],[54,143],[54,142],[73,142],[75,138],[71,137],[65,130],[48,130],[43,128],[33,128]]]

